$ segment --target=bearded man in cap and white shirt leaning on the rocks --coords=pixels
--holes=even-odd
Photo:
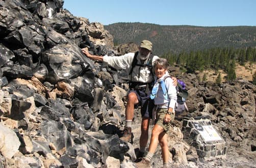
[[[116,69],[124,69],[130,77],[130,90],[127,93],[127,105],[125,108],[125,127],[123,135],[120,137],[124,142],[131,142],[132,139],[132,121],[134,118],[134,106],[141,106],[141,135],[140,151],[137,157],[142,157],[148,141],[149,121],[152,117],[153,101],[150,99],[152,81],[152,62],[159,59],[158,56],[152,55],[152,43],[143,40],[139,45],[139,51],[136,53],[126,53],[119,57],[109,57],[92,55],[87,49],[82,49],[83,53],[90,59],[107,63]],[[135,58],[136,57],[136,58]],[[136,65],[133,63],[136,59]],[[134,66],[132,66],[134,65]],[[176,83],[176,78],[174,78]]]

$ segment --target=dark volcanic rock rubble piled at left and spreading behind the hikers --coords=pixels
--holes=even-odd
[[[73,16],[63,3],[0,0],[0,167],[134,165],[133,146],[118,137],[127,74],[81,51],[120,54],[113,37],[102,24]],[[176,127],[183,117],[208,118],[227,142],[228,155],[255,165],[256,87],[243,80],[217,86],[170,71],[189,90],[189,111]],[[190,154],[188,161],[200,166]]]

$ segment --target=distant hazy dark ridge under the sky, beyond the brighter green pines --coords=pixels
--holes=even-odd
[[[202,27],[189,25],[158,25],[150,23],[114,23],[104,25],[114,37],[114,43],[139,43],[148,39],[153,51],[162,55],[169,51],[209,48],[245,48],[256,46],[256,26]]]

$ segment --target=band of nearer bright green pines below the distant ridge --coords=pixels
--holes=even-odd
[[[240,65],[256,62],[256,48],[212,48],[180,54],[167,52],[162,57],[166,58],[171,65],[185,67],[189,73],[209,69],[223,70],[227,73],[227,80],[232,80],[236,79],[236,62]]]

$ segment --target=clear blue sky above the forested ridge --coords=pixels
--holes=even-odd
[[[256,26],[256,0],[64,0],[63,8],[104,25]]]

